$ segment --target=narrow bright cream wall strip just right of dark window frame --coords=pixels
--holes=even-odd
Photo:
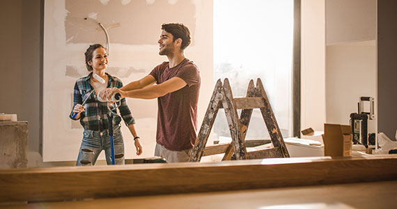
[[[302,0],[301,129],[324,130],[325,0]]]

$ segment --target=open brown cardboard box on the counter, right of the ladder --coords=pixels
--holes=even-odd
[[[352,156],[352,129],[350,125],[324,124],[324,155]]]

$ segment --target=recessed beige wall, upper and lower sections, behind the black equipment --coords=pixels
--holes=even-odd
[[[327,0],[325,6],[326,121],[348,125],[360,96],[377,103],[376,0]],[[368,133],[373,132],[376,118],[368,120]]]

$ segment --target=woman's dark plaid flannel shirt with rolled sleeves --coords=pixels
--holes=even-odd
[[[116,103],[109,104],[110,109],[108,109],[107,102],[98,101],[98,93],[95,92],[94,87],[90,83],[90,78],[92,74],[93,73],[91,72],[88,76],[77,79],[75,89],[73,91],[73,107],[75,107],[76,104],[82,104],[83,101],[88,98],[89,93],[91,93],[91,91],[94,91],[91,95],[89,95],[86,104],[84,104],[84,107],[86,109],[85,111],[81,112],[79,120],[85,130],[107,130],[109,127],[107,114],[109,113],[110,109],[114,109],[114,107],[116,107]],[[107,74],[107,76],[109,77],[109,81],[107,82],[107,88],[123,87],[123,83],[120,79],[118,79],[117,77],[112,77],[109,74]],[[128,126],[130,124],[134,124],[135,120],[132,117],[131,111],[127,106],[125,98],[120,100],[118,104],[120,104],[118,110],[120,111],[121,117],[123,117],[125,125]],[[121,121],[121,118],[117,114],[117,109],[114,109],[112,112],[114,113],[114,125],[118,125]],[[69,117],[72,118],[72,115],[73,111],[70,113]],[[72,120],[77,119],[72,118]]]

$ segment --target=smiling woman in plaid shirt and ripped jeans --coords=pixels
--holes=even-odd
[[[135,120],[127,107],[125,98],[120,102],[100,102],[97,99],[98,93],[104,88],[121,88],[123,83],[117,77],[105,72],[108,65],[107,50],[100,44],[90,45],[86,52],[86,68],[89,75],[77,79],[75,84],[73,104],[74,108],[70,113],[72,120],[80,120],[84,127],[83,141],[81,142],[77,166],[94,165],[102,150],[105,152],[107,164],[111,164],[111,146],[109,137],[109,121],[107,114],[111,111],[114,114],[113,136],[114,156],[116,164],[124,164],[124,141],[120,132],[120,116],[117,115],[117,108],[125,125],[130,129],[134,137],[137,155],[142,153],[142,145],[137,136],[134,123]],[[95,79],[96,75],[104,80]],[[93,76],[95,75],[95,77]],[[102,82],[103,82],[102,80]]]

